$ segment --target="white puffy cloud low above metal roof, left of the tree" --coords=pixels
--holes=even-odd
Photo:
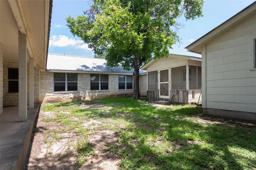
[[[85,44],[82,40],[77,40],[74,38],[69,38],[65,35],[53,35],[49,40],[50,47],[75,47],[85,50],[92,50],[88,47],[88,44]]]

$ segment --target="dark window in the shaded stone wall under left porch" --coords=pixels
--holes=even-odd
[[[8,92],[19,92],[19,69],[8,69]]]

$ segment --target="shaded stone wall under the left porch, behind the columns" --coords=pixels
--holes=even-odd
[[[8,92],[8,68],[18,68],[18,62],[4,62],[3,63],[3,106],[18,106],[19,105],[19,93],[17,92]],[[35,82],[35,104],[39,103],[39,70],[35,68],[34,73],[34,82]],[[29,64],[27,65],[27,96],[29,103]]]

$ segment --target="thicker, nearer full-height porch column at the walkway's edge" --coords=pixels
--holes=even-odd
[[[19,121],[27,120],[27,36],[19,31]]]

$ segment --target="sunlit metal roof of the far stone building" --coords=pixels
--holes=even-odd
[[[110,67],[102,58],[71,56],[61,54],[48,54],[47,70],[74,71],[74,72],[105,72],[133,74],[133,69],[124,70],[121,65]],[[140,71],[144,73],[145,71]]]

